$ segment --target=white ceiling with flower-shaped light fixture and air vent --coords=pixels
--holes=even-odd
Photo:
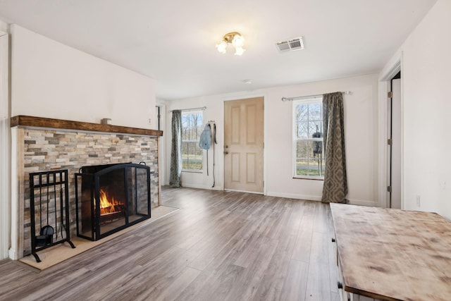
[[[0,20],[154,78],[171,100],[378,72],[436,1],[0,0]],[[231,31],[242,56],[216,51]],[[304,50],[278,52],[299,36]]]

